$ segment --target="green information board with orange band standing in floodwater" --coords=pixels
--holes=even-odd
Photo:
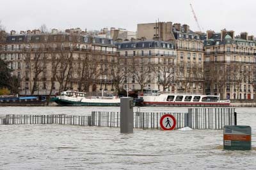
[[[223,148],[224,150],[251,150],[252,128],[248,125],[225,125]]]

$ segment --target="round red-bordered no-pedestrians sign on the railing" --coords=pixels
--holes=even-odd
[[[160,119],[160,125],[164,131],[173,130],[176,125],[175,117],[170,114],[163,115],[163,117],[161,117]]]

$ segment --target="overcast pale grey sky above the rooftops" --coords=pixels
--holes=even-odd
[[[171,21],[198,31],[189,3],[204,31],[247,31],[256,36],[256,1],[249,0],[12,0],[1,1],[0,20],[7,31],[70,27],[99,30],[121,27],[136,31],[136,24]]]

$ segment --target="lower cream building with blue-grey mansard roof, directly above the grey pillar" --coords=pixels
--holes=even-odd
[[[175,85],[175,46],[172,42],[132,40],[116,43],[120,53],[120,73],[124,89],[177,91]]]

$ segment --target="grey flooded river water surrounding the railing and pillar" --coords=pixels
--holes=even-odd
[[[118,107],[1,107],[6,114],[88,115]],[[136,108],[134,108],[136,110]],[[187,112],[187,108],[141,108]],[[0,125],[0,169],[256,169],[256,108],[236,108],[237,124],[252,127],[252,151],[224,151],[223,131]]]

